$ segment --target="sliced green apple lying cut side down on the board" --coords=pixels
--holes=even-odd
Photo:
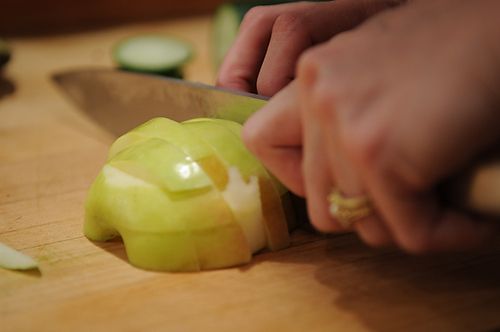
[[[166,271],[230,267],[287,246],[279,191],[241,126],[227,126],[156,118],[117,139],[90,188],[85,235],[121,236],[133,265]]]

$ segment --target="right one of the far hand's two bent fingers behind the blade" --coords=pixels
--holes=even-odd
[[[295,77],[297,59],[312,44],[306,22],[300,15],[278,16],[257,79],[258,93],[272,96],[290,83]]]

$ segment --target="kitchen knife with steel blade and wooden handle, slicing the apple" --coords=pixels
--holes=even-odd
[[[151,74],[113,69],[69,70],[56,84],[97,124],[121,135],[153,117],[176,121],[216,117],[243,123],[265,105],[263,96]],[[500,156],[484,159],[443,186],[448,203],[500,217]]]

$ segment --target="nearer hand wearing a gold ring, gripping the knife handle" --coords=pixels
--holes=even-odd
[[[245,142],[306,196],[320,230],[340,230],[326,200],[339,187],[372,199],[376,213],[354,223],[370,245],[485,243],[496,224],[441,205],[435,186],[500,143],[499,10],[415,1],[310,49],[296,82],[247,122]]]

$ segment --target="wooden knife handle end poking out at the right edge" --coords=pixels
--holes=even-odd
[[[500,157],[482,161],[445,186],[445,199],[500,220]]]

